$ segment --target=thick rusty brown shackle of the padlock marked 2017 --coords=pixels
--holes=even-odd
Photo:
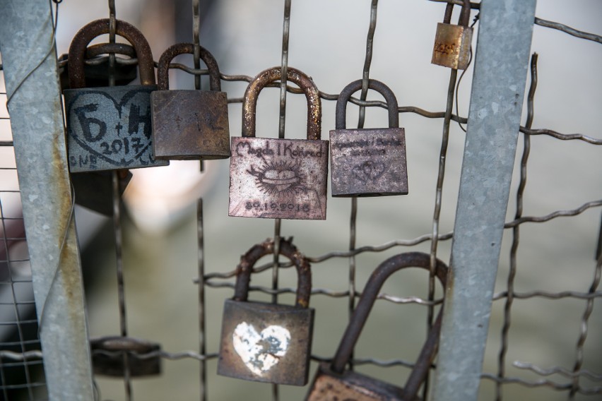
[[[100,35],[109,33],[110,20],[103,18],[92,21],[79,30],[69,46],[69,86],[71,89],[85,87],[85,75],[83,73],[83,61],[85,59],[86,47],[92,40]],[[153,52],[148,42],[138,29],[122,20],[115,22],[115,33],[128,40],[138,57],[138,71],[141,85],[155,85],[155,64]]]

